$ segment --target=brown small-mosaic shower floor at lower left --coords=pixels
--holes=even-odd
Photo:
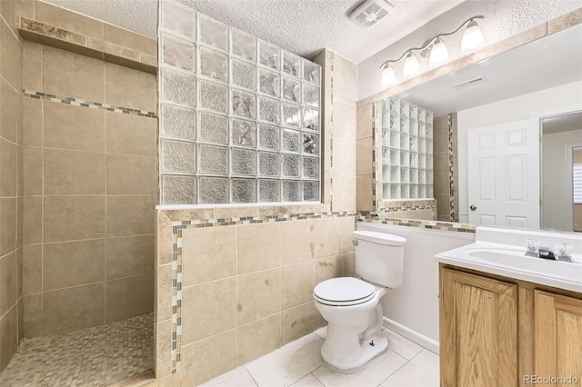
[[[0,386],[107,386],[153,369],[153,342],[153,313],[30,340],[0,374]]]

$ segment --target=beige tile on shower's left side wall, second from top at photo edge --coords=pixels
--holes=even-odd
[[[0,74],[15,90],[22,90],[22,45],[5,23],[0,23]]]

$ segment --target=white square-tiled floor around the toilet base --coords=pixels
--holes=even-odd
[[[330,372],[319,351],[326,328],[218,376],[204,387],[437,387],[438,355],[387,329],[388,351],[354,374]]]

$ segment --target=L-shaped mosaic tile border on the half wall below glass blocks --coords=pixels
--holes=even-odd
[[[180,372],[182,352],[182,231],[186,228],[220,227],[229,225],[291,222],[306,219],[358,216],[354,212],[289,213],[236,218],[193,219],[172,222],[172,342],[171,372]]]

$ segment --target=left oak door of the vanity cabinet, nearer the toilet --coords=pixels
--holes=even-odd
[[[517,285],[440,269],[443,387],[517,386]]]

